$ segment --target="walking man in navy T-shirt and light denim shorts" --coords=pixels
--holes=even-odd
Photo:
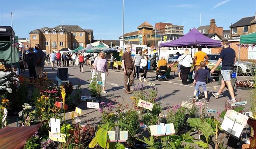
[[[221,41],[221,47],[223,50],[221,50],[221,54],[219,56],[219,60],[216,63],[216,65],[211,69],[211,73],[214,72],[214,70],[221,64],[222,62],[222,67],[221,67],[221,75],[222,75],[222,80],[221,80],[221,87],[217,93],[212,93],[213,96],[218,99],[219,95],[225,88],[225,84],[228,87],[229,94],[231,96],[231,100],[233,102],[236,101],[235,95],[234,95],[234,90],[231,84],[231,73],[234,69],[234,64],[236,62],[236,52],[234,49],[230,48],[228,46],[229,42],[228,40],[224,39]]]

